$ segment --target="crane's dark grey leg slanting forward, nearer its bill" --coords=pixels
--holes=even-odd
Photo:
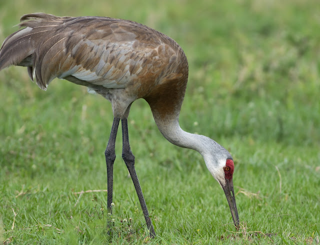
[[[150,236],[154,237],[155,232],[153,229],[153,225],[151,222],[151,219],[149,217],[148,209],[146,208],[146,204],[143,198],[142,190],[140,187],[140,183],[138,180],[138,177],[136,175],[135,169],[134,169],[134,155],[131,152],[130,144],[129,144],[129,135],[128,135],[128,122],[127,119],[121,119],[121,126],[122,126],[122,158],[125,162],[126,167],[129,170],[129,173],[131,175],[134,188],[136,191],[136,194],[138,195],[140,205],[143,211],[143,215],[145,218],[146,226],[148,230],[150,231]]]

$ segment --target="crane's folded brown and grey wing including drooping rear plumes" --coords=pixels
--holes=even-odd
[[[129,20],[45,13],[25,14],[20,20],[25,28],[2,44],[0,70],[27,66],[30,78],[44,90],[53,78],[70,75],[78,84],[85,80],[110,88],[123,88],[130,76],[153,74],[158,79],[166,70],[176,72],[170,64],[178,63],[176,50],[183,54],[169,37]]]

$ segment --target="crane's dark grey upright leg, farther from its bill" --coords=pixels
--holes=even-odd
[[[107,182],[108,182],[107,209],[108,209],[108,212],[110,213],[112,212],[111,203],[112,203],[112,192],[113,192],[113,162],[115,160],[114,147],[115,147],[115,138],[116,138],[116,132],[119,126],[119,121],[120,121],[120,118],[113,118],[109,141],[104,151]]]

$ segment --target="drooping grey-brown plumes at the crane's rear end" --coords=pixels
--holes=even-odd
[[[53,27],[63,18],[45,13],[23,15],[20,21],[27,21],[18,25],[25,28],[13,32],[2,43],[0,70],[10,65],[26,66],[31,80],[45,90],[50,78],[45,77],[48,74],[41,74],[41,63],[47,58],[53,58],[52,53],[59,52],[57,48],[61,48],[60,45],[56,45],[59,36],[54,36]],[[52,50],[54,46],[56,48]],[[43,53],[43,50],[46,52]]]

